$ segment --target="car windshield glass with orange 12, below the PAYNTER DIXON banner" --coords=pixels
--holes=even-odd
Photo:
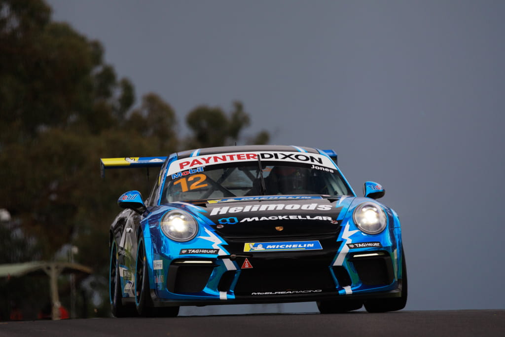
[[[261,169],[260,169],[261,164]],[[290,162],[207,165],[168,175],[162,204],[248,196],[352,195],[338,170]]]

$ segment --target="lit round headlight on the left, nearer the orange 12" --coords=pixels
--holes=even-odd
[[[160,227],[163,233],[175,241],[189,241],[198,231],[194,218],[184,211],[173,210],[161,218]]]

